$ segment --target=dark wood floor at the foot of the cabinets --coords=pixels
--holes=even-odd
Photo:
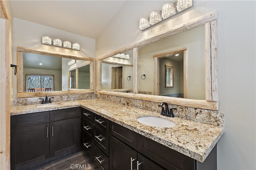
[[[62,158],[61,160],[51,162],[36,170],[98,170],[97,166],[92,162],[84,151]]]

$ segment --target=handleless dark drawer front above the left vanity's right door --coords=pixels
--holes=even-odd
[[[70,119],[80,116],[80,107],[50,111],[50,122]]]

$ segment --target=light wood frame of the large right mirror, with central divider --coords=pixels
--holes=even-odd
[[[138,94],[138,47],[157,41],[171,35],[188,31],[194,27],[205,25],[205,69],[206,69],[206,100],[194,100],[186,98],[172,98],[166,96],[154,96],[146,94]],[[101,90],[101,60],[118,53],[123,53],[133,49],[134,60],[134,93],[120,93]],[[156,57],[155,57],[156,58]],[[97,58],[98,75],[98,94],[106,94],[111,96],[119,96],[124,98],[132,98],[145,100],[150,102],[166,102],[168,104],[195,107],[200,109],[218,110],[218,70],[217,70],[217,12],[210,12],[204,16],[200,16],[186,23],[177,25],[146,39],[137,41],[131,45],[118,49],[108,55]]]

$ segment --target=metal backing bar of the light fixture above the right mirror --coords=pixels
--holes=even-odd
[[[186,2],[186,1],[189,1],[189,0],[179,0],[179,1],[184,1],[184,2]],[[188,8],[186,8],[186,9],[183,9],[183,8],[181,8],[181,9],[183,9],[183,10],[181,10],[180,12],[177,10],[177,1],[176,2],[174,2],[174,3],[172,3],[172,4],[174,4],[174,6],[175,6],[175,14],[173,14],[173,15],[171,15],[171,16],[169,16],[169,17],[167,17],[167,18],[162,18],[162,20],[160,20],[160,21],[158,21],[158,22],[156,22],[156,23],[154,23],[154,24],[150,24],[148,27],[146,27],[145,25],[143,25],[143,26],[141,26],[141,23],[140,23],[140,30],[141,31],[144,31],[145,29],[148,29],[148,28],[150,28],[150,27],[152,27],[152,26],[154,26],[154,25],[156,25],[156,24],[158,24],[158,23],[161,23],[162,21],[165,21],[165,20],[168,20],[169,18],[171,18],[171,17],[173,17],[173,16],[176,16],[176,15],[178,15],[178,14],[180,14],[180,13],[182,13],[182,12],[184,12],[184,11],[186,11],[186,10],[188,10],[188,9],[190,9],[190,8],[192,8],[193,6],[194,6],[194,0],[192,0],[192,5],[191,6],[189,6]],[[162,15],[162,10],[160,10],[159,11],[160,12],[160,14]],[[142,20],[142,19],[141,19]],[[143,21],[145,21],[146,20],[146,18],[143,18]],[[148,21],[150,21],[150,17],[148,17]]]

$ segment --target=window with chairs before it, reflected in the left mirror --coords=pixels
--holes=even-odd
[[[26,92],[51,92],[54,90],[53,75],[26,74]]]

